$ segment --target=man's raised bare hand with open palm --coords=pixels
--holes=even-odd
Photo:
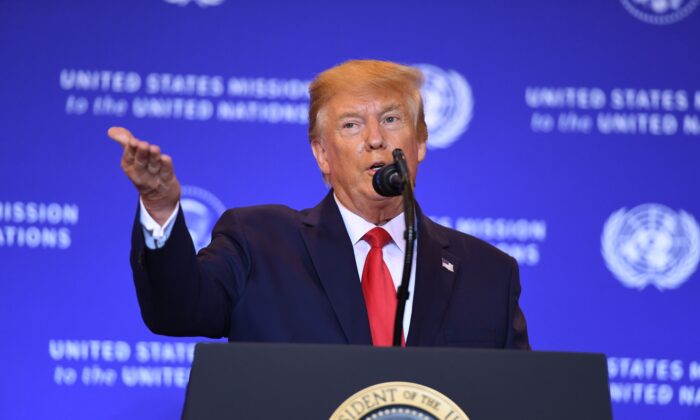
[[[134,183],[148,213],[164,224],[180,200],[180,183],[175,177],[173,160],[160,147],[134,137],[123,127],[111,127],[110,138],[124,148],[122,169]]]

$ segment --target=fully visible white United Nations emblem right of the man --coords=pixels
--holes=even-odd
[[[676,289],[700,261],[700,227],[683,210],[643,204],[613,213],[601,236],[603,258],[627,287]]]

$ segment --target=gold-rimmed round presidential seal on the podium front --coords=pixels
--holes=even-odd
[[[385,382],[355,393],[330,419],[469,420],[469,417],[432,388],[411,382]]]

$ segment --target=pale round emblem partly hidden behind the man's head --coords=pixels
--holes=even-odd
[[[472,89],[461,74],[430,64],[417,64],[425,76],[421,89],[428,147],[442,149],[467,130],[474,111]]]

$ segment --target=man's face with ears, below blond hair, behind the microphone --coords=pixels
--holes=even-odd
[[[321,172],[338,199],[351,210],[387,200],[372,188],[372,176],[393,163],[400,148],[415,180],[425,157],[425,141],[417,139],[414,116],[398,92],[337,93],[321,111],[321,136],[312,141]]]

